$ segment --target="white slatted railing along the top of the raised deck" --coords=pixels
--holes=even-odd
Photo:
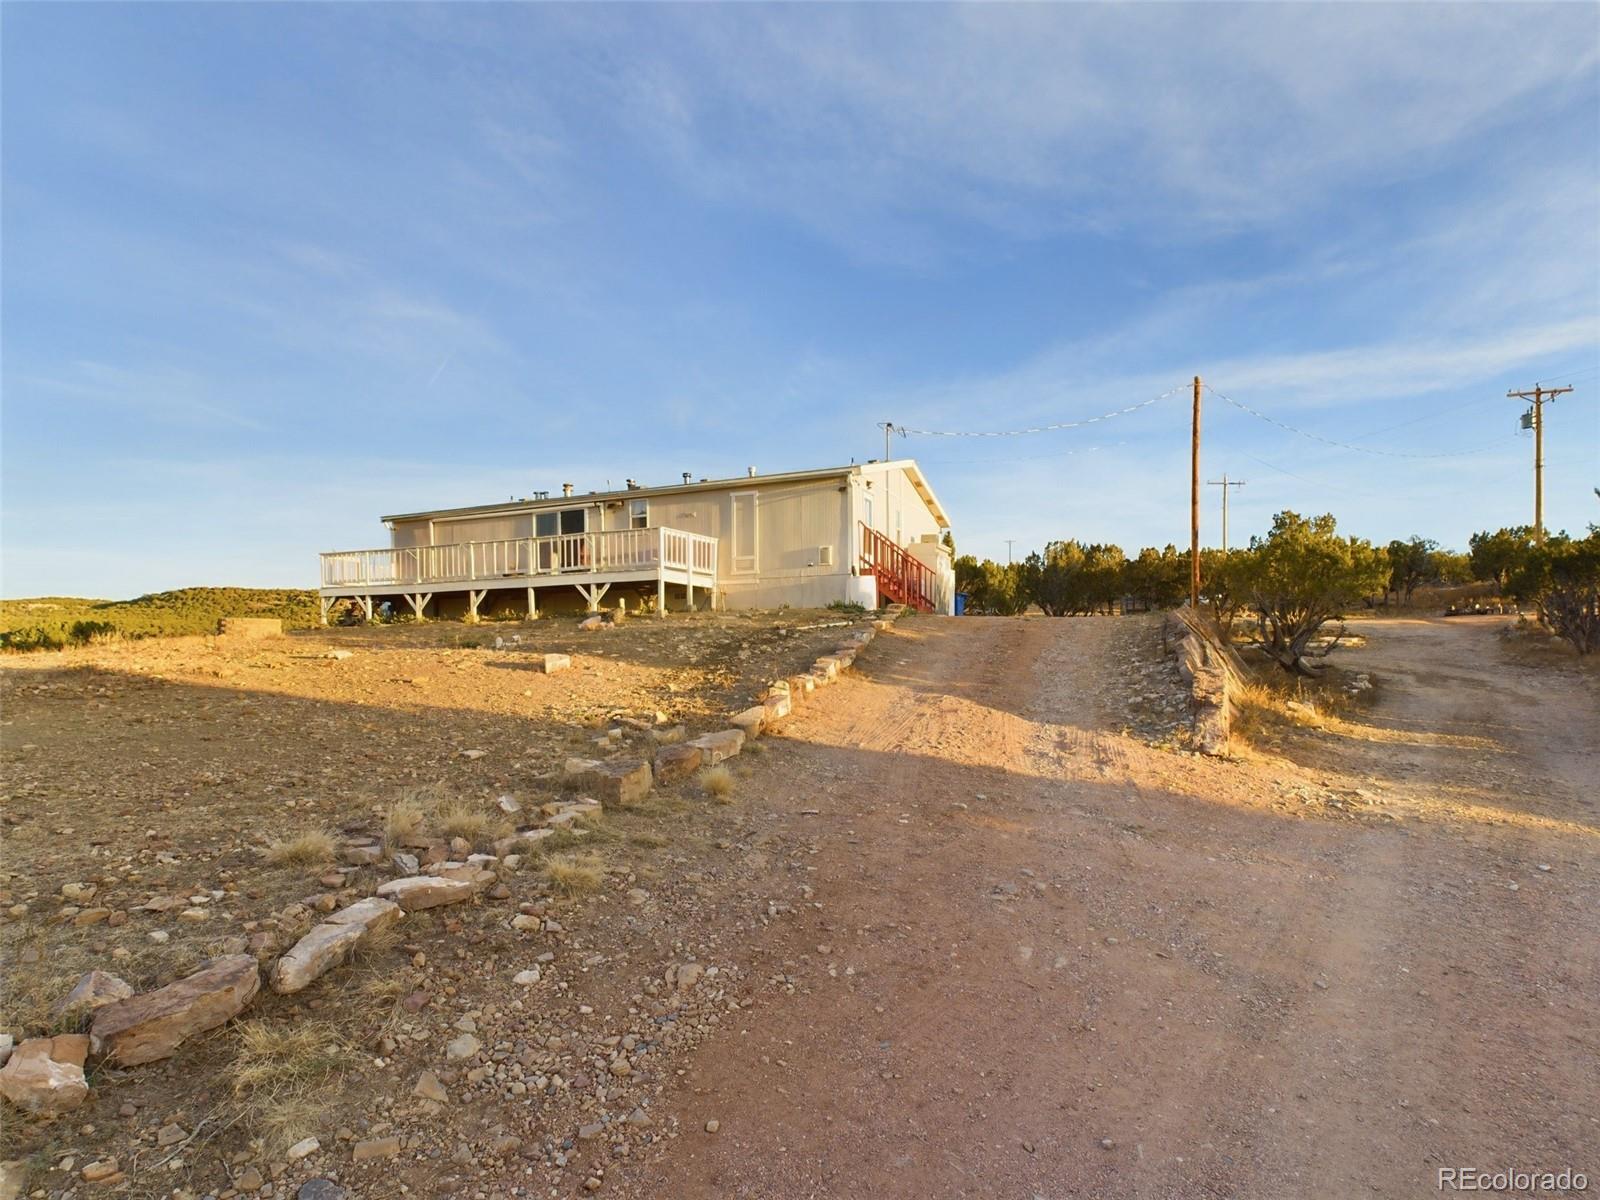
[[[717,539],[683,530],[606,530],[493,542],[333,550],[322,555],[323,587],[470,584],[547,574],[650,573],[661,568],[717,578]]]

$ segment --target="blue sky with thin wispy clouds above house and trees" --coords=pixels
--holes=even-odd
[[[1600,8],[6,5],[6,595],[882,454],[1200,373],[1232,531],[1600,520]],[[963,552],[1187,538],[1187,402],[898,438]],[[1218,488],[1206,490],[1216,539]]]

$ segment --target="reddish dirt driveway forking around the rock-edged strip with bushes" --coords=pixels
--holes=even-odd
[[[1595,677],[1499,624],[1363,626],[1379,699],[1294,734],[1306,768],[1122,736],[1149,626],[904,622],[747,784],[811,850],[794,994],[722,1026],[662,1098],[688,1133],[606,1192],[1600,1181]]]

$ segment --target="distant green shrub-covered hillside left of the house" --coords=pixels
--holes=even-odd
[[[109,637],[214,634],[224,616],[277,616],[285,629],[307,629],[317,624],[317,594],[298,587],[179,587],[136,600],[0,600],[0,646],[59,650]]]

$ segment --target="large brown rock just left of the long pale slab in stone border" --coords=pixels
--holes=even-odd
[[[232,1019],[261,989],[248,954],[213,958],[187,979],[94,1010],[96,1054],[125,1067],[170,1056],[184,1040]]]

